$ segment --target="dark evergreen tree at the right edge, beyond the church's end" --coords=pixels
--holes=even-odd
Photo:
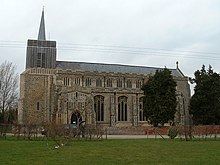
[[[190,113],[195,124],[220,124],[220,75],[209,66],[197,70],[193,79],[195,93],[190,100]]]

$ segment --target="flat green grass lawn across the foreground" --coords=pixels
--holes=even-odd
[[[128,139],[53,142],[1,140],[0,164],[220,164],[220,141]]]

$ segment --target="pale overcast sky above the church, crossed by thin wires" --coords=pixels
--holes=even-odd
[[[0,0],[0,60],[19,74],[43,6],[58,60],[220,71],[220,0]]]

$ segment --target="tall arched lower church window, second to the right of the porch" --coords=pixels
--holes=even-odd
[[[118,121],[127,121],[127,97],[118,98]]]

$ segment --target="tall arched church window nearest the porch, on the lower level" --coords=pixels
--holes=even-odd
[[[96,121],[104,121],[104,97],[95,96],[94,97],[94,110],[96,113]]]

